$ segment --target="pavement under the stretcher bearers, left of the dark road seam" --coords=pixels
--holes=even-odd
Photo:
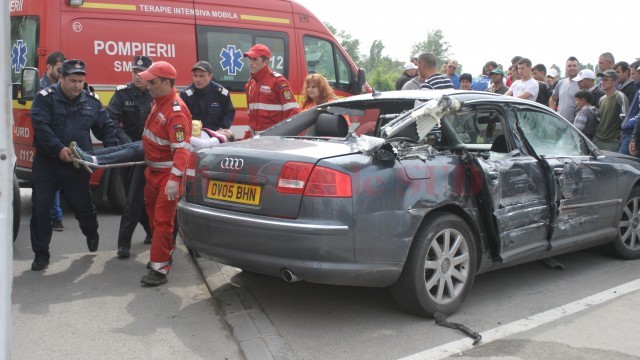
[[[64,208],[65,231],[54,232],[51,265],[30,270],[31,191],[14,243],[13,360],[243,359],[184,246],[174,253],[169,283],[141,286],[149,245],[138,227],[132,258],[116,258],[120,216],[99,209],[100,246],[90,253],[78,222]]]

